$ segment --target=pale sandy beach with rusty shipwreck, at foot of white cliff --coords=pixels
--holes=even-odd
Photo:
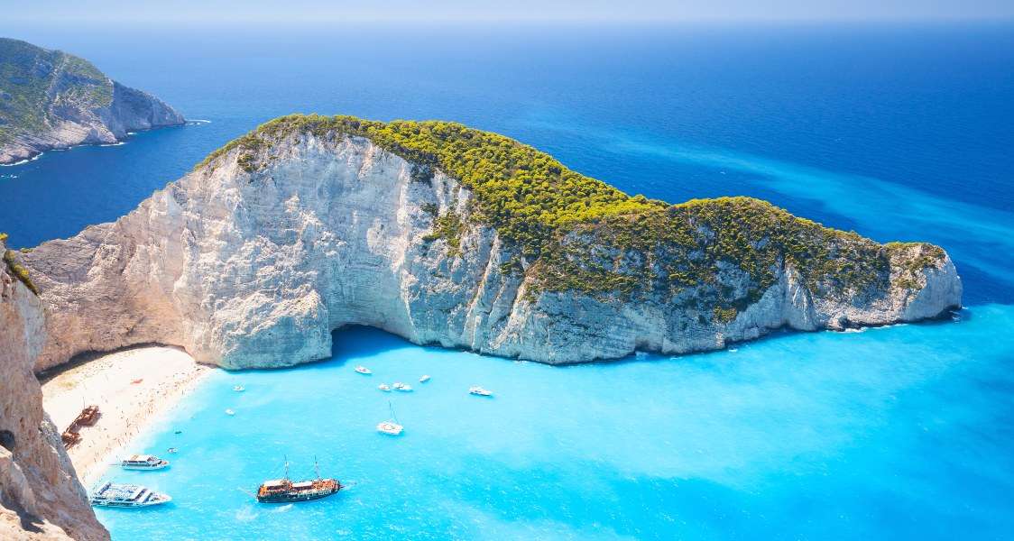
[[[101,416],[80,430],[81,442],[68,454],[85,487],[98,480],[130,439],[170,410],[212,372],[183,350],[138,347],[99,357],[73,367],[43,384],[46,412],[61,431],[86,404],[97,404]]]

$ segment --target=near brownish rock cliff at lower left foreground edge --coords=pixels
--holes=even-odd
[[[43,411],[44,327],[42,301],[0,263],[0,538],[108,539]]]

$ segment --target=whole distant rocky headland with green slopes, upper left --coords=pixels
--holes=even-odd
[[[0,163],[182,124],[172,107],[83,59],[0,38]]]

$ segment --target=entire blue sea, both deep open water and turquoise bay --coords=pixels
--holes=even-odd
[[[332,359],[217,372],[139,435],[132,451],[175,448],[172,465],[104,478],[173,501],[97,510],[114,540],[1014,535],[1014,23],[0,33],[87,58],[191,120],[0,167],[13,247],[114,220],[258,124],[318,112],[456,121],[631,194],[751,196],[934,242],[964,285],[941,321],[566,368],[339,329]],[[377,390],[394,381],[415,390]],[[477,384],[494,395],[468,395]],[[375,432],[392,416],[403,436]],[[257,504],[286,463],[347,489]]]

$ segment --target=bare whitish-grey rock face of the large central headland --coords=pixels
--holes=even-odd
[[[470,212],[472,192],[440,171],[414,179],[413,163],[367,139],[308,133],[262,161],[247,172],[233,150],[117,222],[20,255],[51,314],[37,369],[142,342],[227,368],[294,365],[328,357],[331,331],[348,324],[575,363],[715,350],[780,327],[915,321],[960,305],[946,254],[910,264],[922,245],[893,251],[892,286],[866,296],[812,292],[783,262],[779,281],[724,323],[666,292],[637,302],[537,292],[525,273],[502,272],[516,254],[491,228],[466,226],[457,252],[428,239],[434,208]],[[723,287],[745,280],[731,263],[720,273]]]

